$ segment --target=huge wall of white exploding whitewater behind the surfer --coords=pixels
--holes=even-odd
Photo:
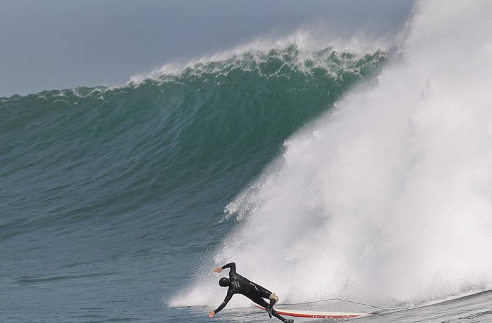
[[[230,261],[290,302],[415,305],[490,289],[491,12],[418,2],[379,85],[285,141],[226,208],[238,227],[169,304],[217,303],[209,272]]]

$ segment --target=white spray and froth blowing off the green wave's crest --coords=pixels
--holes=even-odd
[[[335,75],[341,67],[354,70],[357,66],[351,62],[360,60],[364,55],[374,53],[382,55],[391,51],[394,39],[399,37],[394,31],[372,34],[352,27],[347,28],[346,32],[337,29],[338,34],[334,34],[327,28],[328,26],[322,24],[317,25],[316,28],[304,27],[284,37],[265,34],[253,41],[212,55],[204,55],[186,62],[168,62],[148,74],[135,74],[128,84],[138,85],[148,79],[162,81],[190,70],[194,74],[203,72],[220,74],[234,68],[254,70],[271,58],[280,60],[283,65],[296,67],[302,72],[309,73],[317,67]],[[338,60],[330,59],[337,56]],[[345,60],[345,58],[350,59]],[[342,65],[339,65],[340,62]]]

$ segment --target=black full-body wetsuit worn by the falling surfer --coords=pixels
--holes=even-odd
[[[224,298],[224,302],[222,302],[222,304],[214,312],[217,313],[226,307],[227,303],[231,301],[234,294],[242,294],[264,308],[268,308],[270,306],[270,304],[266,303],[264,298],[268,299],[272,295],[271,291],[268,291],[268,289],[251,282],[249,279],[246,279],[235,272],[235,263],[228,263],[227,265],[222,266],[222,269],[225,268],[231,268],[229,271],[231,285],[227,290],[227,296]],[[273,310],[273,308],[271,309],[271,315],[281,319],[282,322],[293,322],[291,319],[281,317],[276,310]]]

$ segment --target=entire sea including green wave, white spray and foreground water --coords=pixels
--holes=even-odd
[[[443,6],[381,48],[0,98],[0,321],[212,322],[235,261],[280,303],[384,309],[355,322],[492,322],[492,4]]]

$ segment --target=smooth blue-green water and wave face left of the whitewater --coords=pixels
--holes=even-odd
[[[386,60],[314,57],[290,46],[0,98],[1,321],[200,321],[167,300],[235,226],[218,223],[226,205]]]

